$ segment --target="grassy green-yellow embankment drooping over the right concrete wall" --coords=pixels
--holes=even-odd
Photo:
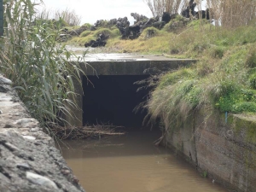
[[[177,21],[177,20],[176,20]],[[172,21],[172,22],[175,22]],[[166,127],[185,120],[195,109],[218,109],[230,113],[256,113],[256,25],[215,27],[195,20],[173,31],[172,23],[162,30],[148,28],[135,40],[120,40],[114,29],[83,32],[73,44],[84,44],[98,32],[108,32],[107,51],[165,54],[174,58],[194,58],[190,67],[160,76],[151,93],[150,119],[160,117]],[[147,38],[148,30],[154,36]]]

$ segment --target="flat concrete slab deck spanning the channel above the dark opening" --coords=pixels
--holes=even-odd
[[[86,75],[146,75],[177,69],[195,61],[165,55],[88,54],[84,56],[84,62],[89,65],[81,67]]]

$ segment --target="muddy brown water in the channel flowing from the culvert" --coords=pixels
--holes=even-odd
[[[121,137],[67,141],[68,166],[86,192],[226,192],[165,147],[160,131],[128,129]]]

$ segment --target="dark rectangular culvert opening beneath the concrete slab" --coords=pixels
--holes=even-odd
[[[83,124],[109,123],[125,127],[142,127],[147,111],[133,109],[147,99],[149,89],[134,84],[149,75],[100,75],[83,78]]]

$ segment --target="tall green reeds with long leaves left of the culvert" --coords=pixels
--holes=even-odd
[[[57,41],[61,19],[55,24],[35,19],[36,4],[30,0],[3,4],[1,73],[13,81],[32,117],[45,126],[58,123],[58,114],[71,113],[69,108],[76,107],[73,79],[80,79],[79,65],[68,62],[72,54]]]

